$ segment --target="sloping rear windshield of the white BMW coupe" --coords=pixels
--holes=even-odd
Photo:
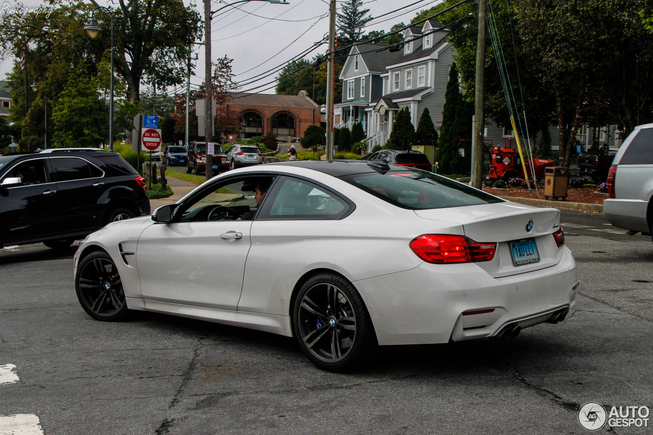
[[[468,185],[428,172],[377,172],[348,175],[342,179],[383,201],[410,210],[505,202]]]

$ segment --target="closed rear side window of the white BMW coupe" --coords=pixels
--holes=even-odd
[[[338,219],[350,206],[324,187],[306,180],[282,178],[257,219]]]

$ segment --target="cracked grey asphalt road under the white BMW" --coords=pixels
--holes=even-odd
[[[0,368],[15,365],[16,380],[0,372],[0,435],[8,415],[36,416],[48,435],[583,434],[586,402],[653,408],[650,237],[562,216],[581,276],[564,322],[388,347],[346,375],[264,332],[147,313],[94,321],[74,295],[74,248],[5,248]],[[648,423],[597,433],[651,434]]]

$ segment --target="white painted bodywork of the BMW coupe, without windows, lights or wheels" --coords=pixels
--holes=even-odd
[[[575,300],[575,261],[551,235],[559,224],[558,210],[502,202],[415,212],[328,174],[283,165],[230,171],[209,183],[261,170],[325,184],[351,200],[355,210],[336,220],[162,224],[130,219],[86,238],[75,255],[75,267],[82,253],[104,249],[114,258],[131,309],[288,336],[298,282],[315,270],[330,270],[360,293],[379,344],[492,336],[514,321],[522,327],[541,323]],[[530,232],[525,229],[529,219],[534,222]],[[228,231],[242,233],[242,238],[219,238]],[[497,253],[485,263],[428,264],[409,247],[421,234],[498,242]],[[508,242],[523,237],[535,239],[541,261],[513,266]],[[125,257],[126,263],[119,244],[135,253]],[[484,308],[494,312],[461,317],[466,310]]]

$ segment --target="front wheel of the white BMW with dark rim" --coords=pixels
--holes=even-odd
[[[117,321],[127,314],[118,268],[104,251],[95,251],[80,262],[75,291],[82,308],[93,319]]]

